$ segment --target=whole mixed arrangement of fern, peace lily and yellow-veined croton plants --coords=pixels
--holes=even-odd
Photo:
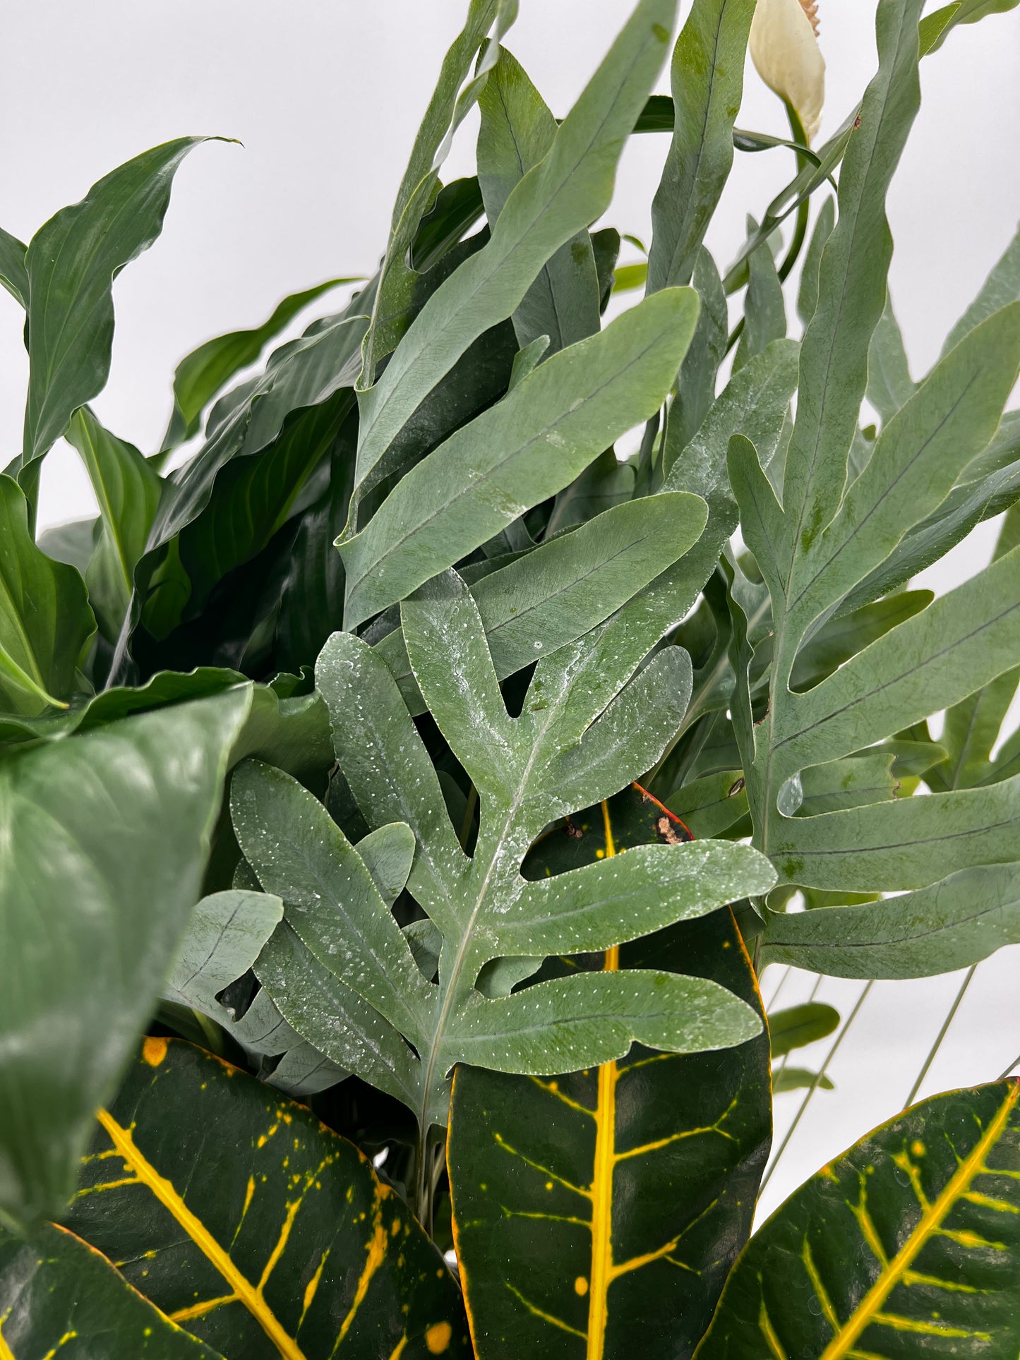
[[[639,0],[562,121],[511,0],[471,0],[378,273],[245,381],[355,280],[196,350],[148,454],[88,403],[201,139],[3,234],[3,1360],[1016,1356],[1016,1081],[906,1110],[751,1236],[763,967],[1020,941],[1020,248],[915,381],[885,219],[919,60],[1009,7],[880,0],[812,148],[794,0],[694,0],[672,48]],[[749,35],[787,140],[734,128]],[[617,268],[590,228],[642,133]],[[734,148],[796,174],[721,273]],[[37,533],[61,437],[99,514]],[[910,589],[1002,511],[986,570]],[[771,1055],[836,1019],[774,1015]]]

